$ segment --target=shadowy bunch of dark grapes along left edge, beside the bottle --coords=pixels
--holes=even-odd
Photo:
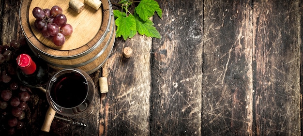
[[[25,39],[12,40],[0,45],[0,135],[13,135],[23,128],[30,88],[20,84],[16,76],[15,58],[29,50],[24,49]]]

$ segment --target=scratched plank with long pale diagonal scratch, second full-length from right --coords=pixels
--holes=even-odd
[[[202,135],[253,135],[252,8],[204,1]]]

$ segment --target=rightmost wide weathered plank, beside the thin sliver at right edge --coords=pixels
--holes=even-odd
[[[258,136],[300,136],[300,0],[254,2]]]

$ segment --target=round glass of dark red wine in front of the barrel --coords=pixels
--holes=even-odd
[[[81,120],[93,111],[95,85],[83,70],[66,68],[51,77],[46,98],[56,113]]]

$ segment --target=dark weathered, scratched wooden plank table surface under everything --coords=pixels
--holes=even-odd
[[[0,0],[1,45],[23,36],[20,1]],[[117,38],[90,75],[96,89],[107,76],[109,92],[89,126],[54,119],[42,132],[48,104],[34,91],[20,135],[302,136],[303,0],[157,1],[162,38]]]

